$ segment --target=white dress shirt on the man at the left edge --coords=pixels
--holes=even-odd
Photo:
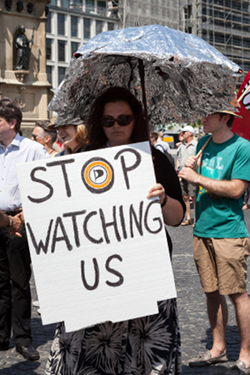
[[[50,158],[45,147],[19,134],[6,149],[0,142],[1,210],[14,211],[22,207],[15,165],[45,158]]]

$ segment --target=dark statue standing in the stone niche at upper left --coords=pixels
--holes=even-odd
[[[31,40],[28,40],[25,35],[25,27],[20,27],[20,34],[17,35],[15,40],[15,47],[17,49],[17,59],[15,70],[29,70],[30,62],[30,43],[33,45],[34,40],[34,28]]]

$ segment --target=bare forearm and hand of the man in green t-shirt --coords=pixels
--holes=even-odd
[[[208,193],[219,197],[239,199],[248,186],[248,181],[233,179],[231,181],[214,180],[198,174],[190,167],[184,167],[179,172],[179,177],[188,182],[202,186]]]

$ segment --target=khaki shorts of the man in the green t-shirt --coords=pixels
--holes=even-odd
[[[245,293],[247,257],[246,238],[202,238],[194,236],[194,260],[205,293],[222,295]]]

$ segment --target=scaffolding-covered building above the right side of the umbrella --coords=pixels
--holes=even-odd
[[[249,0],[187,0],[185,16],[185,31],[206,40],[245,74],[250,70]]]

